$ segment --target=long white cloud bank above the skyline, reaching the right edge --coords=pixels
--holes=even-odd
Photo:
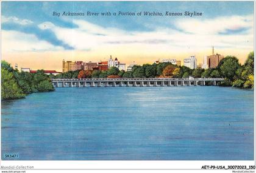
[[[179,19],[174,27],[155,27],[149,32],[134,32],[115,28],[105,28],[83,20],[73,20],[76,29],[67,29],[43,22],[42,30],[51,30],[65,44],[76,50],[97,50],[99,47],[163,51],[183,51],[190,47],[196,51],[212,46],[252,49],[253,16],[226,16],[222,18]]]

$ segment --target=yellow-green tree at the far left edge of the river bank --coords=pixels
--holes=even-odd
[[[9,70],[1,69],[1,100],[24,98],[25,94],[18,87],[15,78]]]

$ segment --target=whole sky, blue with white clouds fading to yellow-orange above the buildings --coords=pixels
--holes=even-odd
[[[211,55],[244,63],[254,50],[254,2],[2,2],[2,59],[15,66],[62,71],[62,59],[127,66],[157,59],[197,64]],[[15,4],[15,5],[13,5]],[[70,9],[71,4],[73,8]],[[19,8],[19,9],[18,9]],[[188,11],[202,16],[53,16],[53,12]],[[30,11],[30,13],[27,13]]]

